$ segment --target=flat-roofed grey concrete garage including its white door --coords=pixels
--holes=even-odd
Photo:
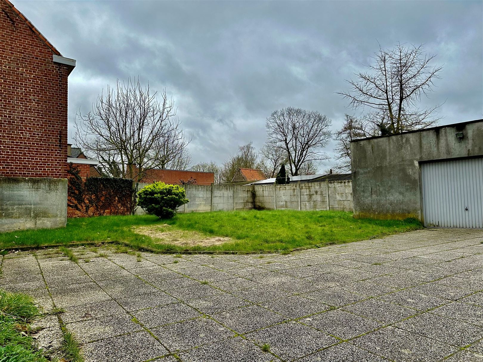
[[[483,228],[483,120],[356,139],[354,215]]]

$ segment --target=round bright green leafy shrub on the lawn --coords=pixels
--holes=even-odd
[[[138,205],[150,215],[160,219],[171,219],[176,209],[189,202],[185,189],[179,185],[154,182],[138,192]]]

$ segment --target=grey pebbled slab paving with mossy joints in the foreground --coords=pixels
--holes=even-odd
[[[476,362],[482,242],[426,229],[291,255],[18,252],[1,284],[63,307],[38,340],[55,350],[60,320],[92,362]]]

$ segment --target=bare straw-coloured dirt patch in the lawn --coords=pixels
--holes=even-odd
[[[174,244],[184,247],[212,246],[225,244],[232,241],[231,237],[207,237],[196,231],[170,229],[168,224],[155,226],[138,226],[133,230],[135,233],[152,237],[160,244]]]

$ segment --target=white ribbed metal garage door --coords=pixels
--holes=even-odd
[[[483,158],[421,165],[425,226],[483,228]]]

